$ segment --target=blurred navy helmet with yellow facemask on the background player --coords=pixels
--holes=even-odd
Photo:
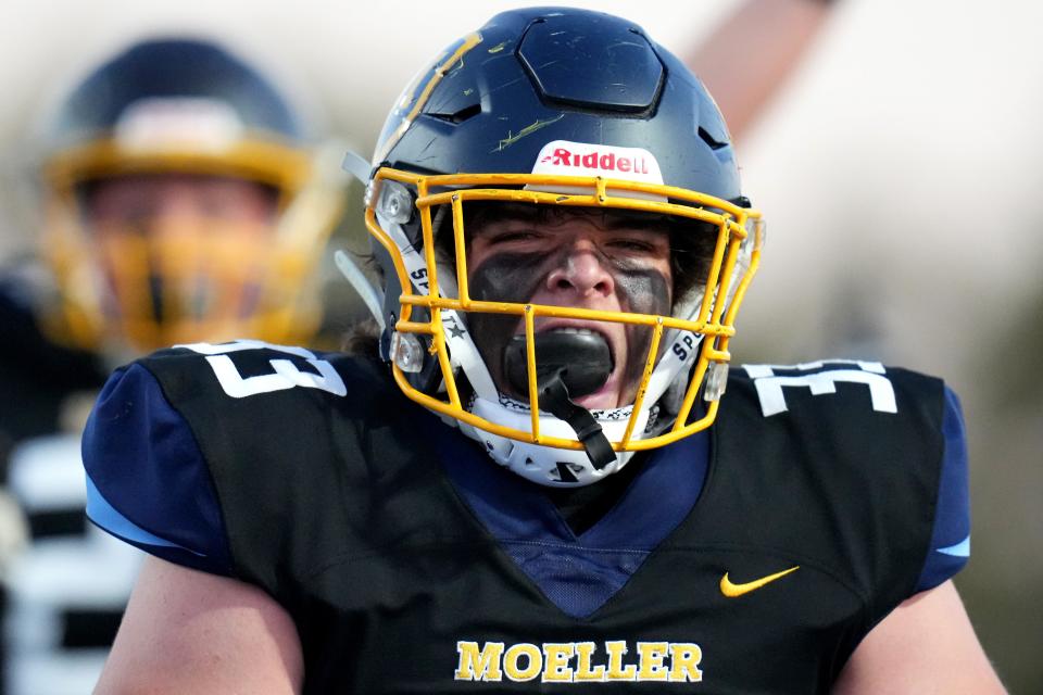
[[[237,337],[296,343],[317,329],[314,270],[345,177],[253,66],[209,40],[138,42],[62,100],[45,137],[52,337],[108,353]],[[215,212],[227,204],[218,192],[200,214],[131,200],[120,204],[141,210],[92,219],[101,185],[168,177],[246,181],[267,212],[251,222]]]

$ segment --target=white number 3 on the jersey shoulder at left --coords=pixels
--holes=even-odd
[[[260,340],[236,340],[230,343],[214,345],[211,343],[192,343],[189,345],[175,345],[175,348],[187,348],[192,352],[206,355],[206,362],[221,382],[221,388],[225,393],[234,399],[244,399],[248,395],[259,393],[271,393],[273,391],[284,391],[294,387],[305,389],[319,389],[328,391],[334,395],[344,395],[348,389],[344,387],[343,379],[334,369],[334,365],[325,359],[318,359],[310,350],[303,348],[290,348],[286,345],[272,345]],[[315,368],[318,374],[311,371],[301,371],[289,359],[269,359],[273,374],[262,374],[255,377],[243,377],[239,374],[236,365],[231,362],[228,353],[241,352],[243,350],[273,350],[286,353],[304,359],[309,365]]]

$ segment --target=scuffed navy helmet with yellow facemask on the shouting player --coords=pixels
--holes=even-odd
[[[713,99],[640,26],[573,8],[494,16],[404,90],[370,165],[381,354],[410,399],[552,486],[589,484],[713,422],[764,226]],[[467,226],[497,205],[666,220],[670,306],[607,312],[477,291]],[[599,326],[613,323],[643,331],[630,341],[640,354],[612,354]],[[495,325],[508,336],[490,339]],[[578,405],[620,361],[632,402]]]

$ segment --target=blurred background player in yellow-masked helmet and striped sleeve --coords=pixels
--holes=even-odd
[[[0,462],[29,536],[4,572],[3,682],[58,695],[92,687],[138,566],[83,515],[84,408],[162,345],[313,341],[345,179],[267,76],[196,38],[97,67],[46,139],[41,263],[0,279]]]

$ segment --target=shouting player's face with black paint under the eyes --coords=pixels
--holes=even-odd
[[[662,225],[615,211],[504,205],[467,224],[468,282],[476,300],[668,315],[673,305],[670,237]],[[500,390],[522,400],[504,377],[503,352],[524,334],[516,316],[470,314],[472,334]],[[614,367],[605,384],[577,400],[588,409],[633,402],[652,331],[644,326],[537,317],[536,332],[593,331]]]

